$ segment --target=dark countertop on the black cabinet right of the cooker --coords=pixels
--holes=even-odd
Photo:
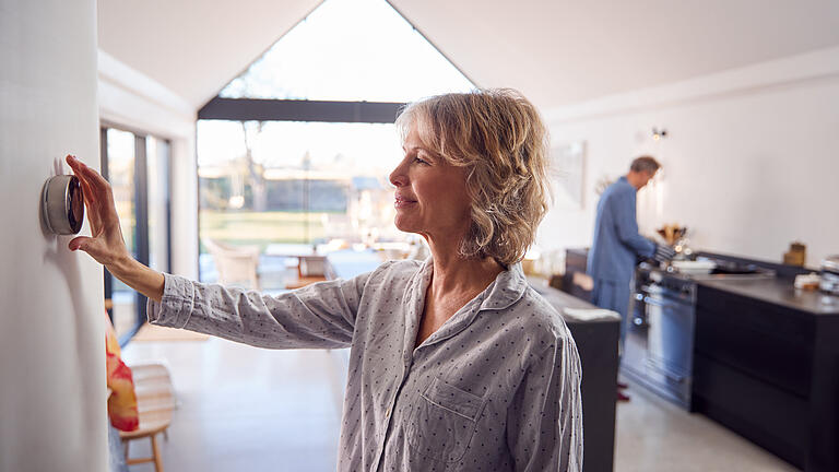
[[[789,279],[718,279],[697,282],[711,288],[813,315],[839,316],[839,297],[818,291],[796,290]]]

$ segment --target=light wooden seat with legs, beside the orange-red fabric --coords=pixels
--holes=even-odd
[[[126,453],[126,463],[129,465],[154,462],[154,470],[163,472],[163,460],[157,446],[157,434],[166,435],[166,429],[172,423],[172,414],[175,410],[175,389],[172,385],[172,376],[168,368],[159,363],[141,364],[131,366],[137,392],[137,409],[140,416],[140,427],[132,432],[120,432]],[[130,459],[128,445],[131,440],[150,438],[152,441],[152,457]]]

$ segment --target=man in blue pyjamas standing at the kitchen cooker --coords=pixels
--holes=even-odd
[[[633,161],[629,173],[606,188],[598,203],[594,241],[587,272],[594,281],[592,303],[621,314],[621,346],[626,337],[631,281],[638,259],[670,260],[675,252],[638,234],[636,193],[649,182],[661,164],[650,156]],[[618,385],[619,388],[626,388]],[[618,400],[627,397],[618,389]]]

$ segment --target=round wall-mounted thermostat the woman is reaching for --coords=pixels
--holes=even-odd
[[[76,176],[60,175],[44,184],[44,223],[51,233],[73,235],[82,231],[84,193]]]

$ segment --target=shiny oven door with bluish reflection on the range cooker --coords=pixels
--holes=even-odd
[[[685,406],[690,402],[694,357],[694,305],[666,296],[645,297],[647,312],[647,377]]]

